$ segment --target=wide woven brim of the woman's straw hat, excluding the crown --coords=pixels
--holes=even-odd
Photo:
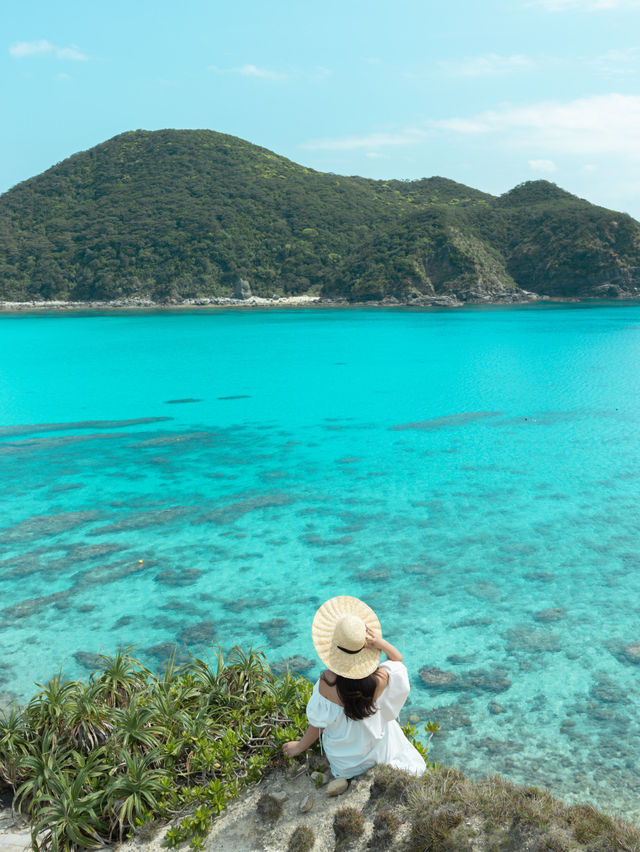
[[[340,651],[333,642],[336,623],[344,615],[355,615],[364,621],[374,633],[382,635],[378,616],[359,598],[339,595],[322,604],[311,625],[311,637],[316,653],[335,674],[348,678],[362,678],[372,674],[380,665],[382,652],[377,648],[363,648],[357,654]]]

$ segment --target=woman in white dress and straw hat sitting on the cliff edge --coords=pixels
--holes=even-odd
[[[285,743],[287,757],[301,754],[322,733],[336,778],[353,778],[376,763],[422,775],[422,755],[402,733],[396,717],[409,695],[402,654],[381,636],[374,611],[358,598],[331,598],[316,612],[313,644],[328,670],[307,704],[309,727]],[[386,662],[380,664],[382,652]]]

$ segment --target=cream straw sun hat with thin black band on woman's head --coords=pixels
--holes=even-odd
[[[352,679],[372,674],[381,652],[365,647],[366,627],[381,634],[378,616],[358,598],[341,595],[323,603],[313,618],[311,636],[325,666]]]

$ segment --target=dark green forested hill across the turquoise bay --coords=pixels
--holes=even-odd
[[[208,130],[135,131],[0,196],[0,299],[640,297],[640,225],[547,181],[324,174]]]

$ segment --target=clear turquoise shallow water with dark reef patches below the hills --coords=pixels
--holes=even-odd
[[[314,677],[354,594],[436,760],[640,818],[639,363],[638,306],[0,317],[4,700],[123,643]]]

